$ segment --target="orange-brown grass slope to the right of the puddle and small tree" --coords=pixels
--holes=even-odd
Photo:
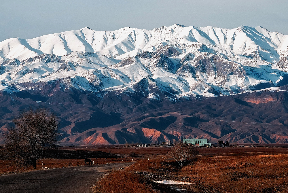
[[[286,193],[288,155],[199,157],[179,175],[190,176],[219,192]]]

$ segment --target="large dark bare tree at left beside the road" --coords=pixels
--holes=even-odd
[[[32,164],[36,169],[36,161],[43,157],[45,149],[58,143],[58,118],[47,109],[30,108],[21,111],[13,123],[15,126],[10,128],[5,141],[10,158],[24,165]]]

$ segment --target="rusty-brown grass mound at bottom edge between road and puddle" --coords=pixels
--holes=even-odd
[[[115,171],[106,175],[98,183],[97,191],[101,193],[156,193],[151,185],[141,180],[139,175],[124,171]]]

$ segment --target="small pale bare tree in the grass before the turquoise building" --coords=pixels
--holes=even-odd
[[[187,159],[199,153],[194,147],[183,144],[182,141],[177,142],[168,152],[168,155],[174,158],[182,167]]]

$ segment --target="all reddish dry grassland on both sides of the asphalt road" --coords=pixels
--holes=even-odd
[[[182,168],[167,157],[168,147],[62,147],[62,150],[101,151],[114,153],[122,158],[92,158],[95,164],[131,162],[124,170],[105,174],[98,181],[94,192],[235,192],[235,193],[287,193],[288,148],[198,148],[199,154]],[[129,154],[135,152],[135,157]],[[149,158],[149,160],[148,160]],[[83,159],[43,159],[37,169],[84,165]],[[32,170],[18,168],[7,160],[0,160],[0,175]],[[159,180],[177,180],[194,185],[167,185],[154,183]],[[141,191],[140,191],[141,190]]]

